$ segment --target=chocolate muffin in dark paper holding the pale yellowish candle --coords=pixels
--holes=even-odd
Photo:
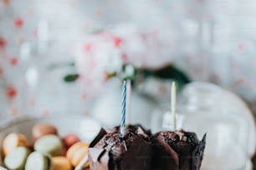
[[[157,170],[199,170],[206,144],[195,133],[185,131],[161,132],[151,137],[154,155],[151,168]]]

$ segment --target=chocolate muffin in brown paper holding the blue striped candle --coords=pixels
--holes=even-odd
[[[89,148],[91,170],[128,170],[151,168],[151,143],[141,135],[126,130],[107,133]]]

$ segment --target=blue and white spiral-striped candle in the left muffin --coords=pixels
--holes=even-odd
[[[122,87],[122,112],[121,112],[121,122],[120,122],[120,133],[125,133],[125,112],[126,112],[126,81],[123,82]]]

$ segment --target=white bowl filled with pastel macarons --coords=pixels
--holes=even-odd
[[[0,170],[73,170],[100,131],[84,115],[16,117],[0,122]],[[89,163],[83,169],[88,169]]]

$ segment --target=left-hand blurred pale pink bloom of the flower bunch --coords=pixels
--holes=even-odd
[[[84,38],[79,42],[75,53],[75,66],[79,73],[78,81],[84,87],[99,92],[107,80],[107,74],[120,72],[121,51],[115,39],[103,34]]]

